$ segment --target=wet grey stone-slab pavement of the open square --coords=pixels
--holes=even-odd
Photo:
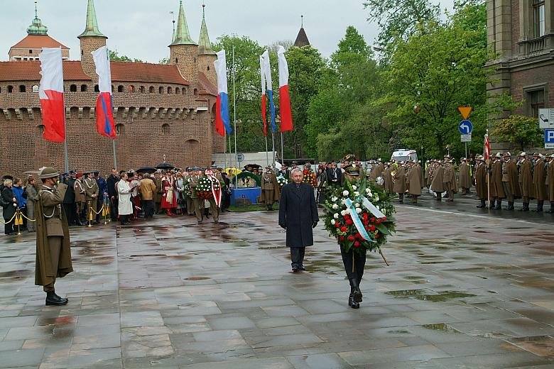
[[[321,224],[290,272],[276,212],[71,228],[65,307],[33,285],[34,235],[0,236],[0,367],[554,368],[550,214],[464,202],[398,207],[359,310]]]

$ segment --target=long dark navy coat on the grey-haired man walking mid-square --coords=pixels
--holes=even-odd
[[[288,247],[313,245],[312,222],[319,221],[313,187],[300,183],[299,189],[291,182],[281,189],[279,224],[286,226]]]

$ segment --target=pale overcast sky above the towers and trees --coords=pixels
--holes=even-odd
[[[206,22],[212,42],[224,34],[247,35],[261,45],[276,40],[295,40],[300,16],[310,43],[328,57],[354,26],[371,44],[379,30],[366,21],[362,0],[205,0]],[[438,0],[436,0],[438,1]],[[452,6],[452,0],[441,1]],[[95,0],[99,29],[108,37],[107,45],[120,55],[158,62],[169,55],[172,15],[178,16],[178,0]],[[184,1],[192,35],[198,40],[202,20],[202,0]],[[8,60],[9,48],[26,36],[34,16],[33,0],[0,0],[0,61]],[[48,35],[79,58],[77,35],[85,29],[87,0],[38,0],[38,16],[48,27]]]

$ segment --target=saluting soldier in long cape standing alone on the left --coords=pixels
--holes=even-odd
[[[40,170],[43,182],[38,192],[36,206],[36,270],[35,285],[43,286],[46,305],[65,305],[55,292],[56,278],[65,277],[73,271],[71,263],[70,236],[67,218],[63,211],[63,198],[67,184],[57,184],[60,175],[51,167]]]

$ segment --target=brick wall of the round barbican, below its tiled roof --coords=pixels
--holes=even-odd
[[[27,92],[7,93],[7,86],[26,85]],[[91,81],[65,81],[67,146],[70,169],[109,172],[113,166],[112,141],[97,133],[94,113],[97,93]],[[78,92],[70,92],[75,84]],[[87,85],[87,92],[80,86]],[[140,92],[140,84],[144,92]],[[63,143],[42,138],[42,116],[35,82],[3,82],[0,84],[0,175],[21,175],[27,170],[51,165],[65,168]],[[123,93],[117,87],[124,87]],[[208,165],[212,158],[214,139],[212,101],[197,101],[190,87],[175,84],[137,82],[136,92],[128,92],[131,83],[114,82],[115,121],[120,131],[116,139],[118,169],[157,165],[166,161],[179,167]],[[154,92],[150,93],[150,87]],[[159,93],[162,87],[163,93]],[[185,94],[167,94],[176,87]],[[207,111],[195,112],[196,106]],[[222,147],[222,140],[221,147]]]

